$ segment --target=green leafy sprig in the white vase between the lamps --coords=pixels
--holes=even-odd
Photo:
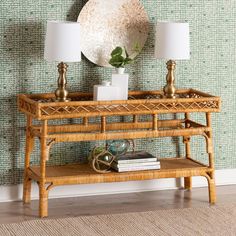
[[[109,60],[109,64],[116,68],[124,68],[125,65],[129,65],[134,62],[139,52],[140,47],[138,43],[134,45],[132,55],[129,55],[125,47],[118,46],[111,52],[111,59]]]

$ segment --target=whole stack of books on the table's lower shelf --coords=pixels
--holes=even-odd
[[[116,157],[112,168],[118,172],[158,170],[160,161],[148,152],[128,152]]]

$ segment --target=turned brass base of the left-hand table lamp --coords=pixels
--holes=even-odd
[[[67,80],[66,80],[66,72],[68,65],[65,64],[64,62],[61,62],[57,66],[58,72],[59,72],[59,77],[58,77],[58,88],[55,90],[55,96],[56,102],[68,102],[70,99],[68,99],[68,90],[66,89],[67,85]]]

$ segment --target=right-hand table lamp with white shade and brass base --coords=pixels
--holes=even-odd
[[[167,59],[167,84],[163,88],[166,98],[176,98],[175,95],[175,60],[190,58],[189,24],[181,22],[158,22],[156,28],[155,57]]]

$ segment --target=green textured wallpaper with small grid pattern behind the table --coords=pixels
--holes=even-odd
[[[2,0],[0,3],[0,184],[22,180],[25,117],[17,111],[18,93],[55,90],[56,63],[43,59],[46,20],[72,20],[85,0]],[[178,63],[177,86],[196,88],[222,97],[222,112],[213,114],[216,168],[236,168],[236,1],[142,0],[150,18],[150,35],[136,63],[128,67],[130,89],[161,89],[165,62],[155,60],[154,26],[158,20],[187,20],[191,28],[191,60]],[[69,64],[70,91],[92,91],[111,77],[111,69],[93,65],[84,57]],[[198,116],[201,119],[201,116]],[[181,139],[139,140],[158,156],[182,153]],[[197,159],[206,158],[203,138],[193,139]],[[37,148],[32,163],[37,163]],[[93,143],[69,143],[52,148],[49,164],[84,161]]]

